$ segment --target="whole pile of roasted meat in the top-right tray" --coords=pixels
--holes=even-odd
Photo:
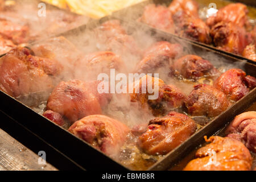
[[[222,7],[204,22],[199,18],[199,5],[193,0],[174,0],[166,7],[148,5],[141,22],[160,30],[205,44],[213,44],[224,51],[243,55],[256,61],[256,27],[249,22],[248,9],[242,3]]]

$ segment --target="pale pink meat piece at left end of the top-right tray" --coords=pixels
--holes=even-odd
[[[174,33],[172,14],[165,6],[154,4],[147,5],[139,21],[160,30]]]

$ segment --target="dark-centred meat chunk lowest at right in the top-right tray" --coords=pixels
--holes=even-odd
[[[233,23],[220,22],[212,27],[210,35],[214,46],[224,51],[242,54],[243,49],[252,42],[245,28]]]

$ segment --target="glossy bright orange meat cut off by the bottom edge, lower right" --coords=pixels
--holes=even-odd
[[[211,142],[196,152],[184,171],[247,171],[251,169],[252,157],[249,150],[236,139],[210,137]]]

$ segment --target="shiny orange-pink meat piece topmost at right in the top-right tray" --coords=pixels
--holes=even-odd
[[[242,3],[232,3],[218,10],[216,16],[210,16],[207,19],[207,24],[209,27],[212,27],[219,22],[224,22],[244,27],[248,23],[247,13],[246,5]]]

